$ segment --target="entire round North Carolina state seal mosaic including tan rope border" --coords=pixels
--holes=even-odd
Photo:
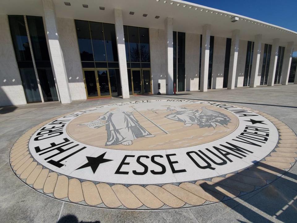
[[[297,137],[245,107],[199,100],[102,105],[48,120],[10,164],[35,190],[101,208],[184,208],[263,187],[290,169]]]

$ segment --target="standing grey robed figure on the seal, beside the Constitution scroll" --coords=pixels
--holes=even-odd
[[[132,145],[134,139],[140,137],[154,137],[134,117],[133,111],[123,111],[115,108],[100,116],[97,120],[106,121],[107,141],[105,146],[122,144]]]

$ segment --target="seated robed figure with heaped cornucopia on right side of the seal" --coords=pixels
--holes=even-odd
[[[217,125],[226,127],[231,119],[222,112],[213,111],[202,107],[200,110],[191,110],[186,107],[167,107],[167,111],[175,111],[167,116],[168,119],[184,123],[184,127],[199,125],[200,128],[217,127]]]

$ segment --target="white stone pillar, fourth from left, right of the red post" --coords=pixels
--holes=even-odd
[[[209,68],[209,46],[210,46],[210,25],[205,24],[202,29],[200,91],[207,91],[208,68]]]

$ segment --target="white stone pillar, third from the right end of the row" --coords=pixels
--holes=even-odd
[[[262,35],[261,34],[256,35],[255,44],[254,44],[253,61],[252,61],[250,87],[257,86],[257,76],[259,71],[260,54],[261,54],[261,43],[262,43]]]

